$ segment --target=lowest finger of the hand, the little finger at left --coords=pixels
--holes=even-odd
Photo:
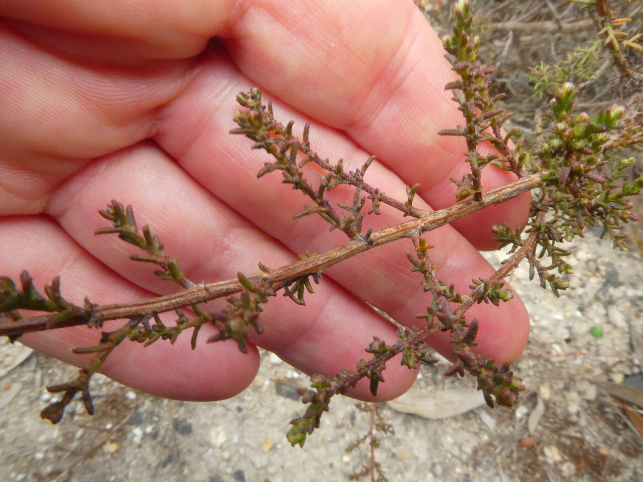
[[[3,275],[16,280],[28,267],[35,286],[41,291],[54,276],[60,275],[63,296],[77,304],[82,304],[86,295],[99,304],[152,296],[89,256],[47,217],[1,219],[0,244],[6,253],[14,253],[14,256],[3,256],[0,262]],[[165,317],[165,321],[172,319]],[[104,329],[113,330],[122,325],[123,321],[114,321],[105,324]],[[248,355],[244,355],[233,341],[206,344],[214,328],[204,326],[202,331],[194,351],[190,350],[190,334],[179,336],[174,346],[157,341],[143,348],[142,344],[123,341],[107,357],[100,371],[122,384],[159,397],[221,400],[237,395],[257,373],[257,350],[251,347]],[[20,338],[22,343],[39,352],[77,366],[87,364],[91,355],[75,355],[71,350],[94,346],[99,340],[100,330],[80,326]]]

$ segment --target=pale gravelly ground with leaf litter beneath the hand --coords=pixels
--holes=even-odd
[[[529,282],[526,269],[511,279],[534,325],[516,364],[528,385],[521,406],[480,406],[428,420],[380,404],[395,434],[383,436],[376,460],[391,481],[643,481],[640,437],[591,381],[640,380],[638,361],[629,356],[633,335],[642,331],[640,256],[614,252],[591,233],[570,249],[575,289],[560,299]],[[501,256],[487,254],[491,262]],[[604,336],[592,335],[592,326]],[[0,373],[28,350],[0,347]],[[72,369],[32,353],[0,379],[0,480],[54,480],[71,466],[55,480],[315,482],[345,480],[368,463],[366,447],[345,452],[369,422],[350,398],[332,402],[305,449],[291,448],[284,434],[302,412],[295,389],[307,377],[271,353],[262,361],[246,391],[215,403],[150,397],[99,376],[96,415],[74,402],[64,421],[51,426],[37,416],[50,398],[42,386],[69,378]],[[470,378],[447,379],[443,371],[424,366],[411,393],[431,404],[447,390],[475,388]],[[530,434],[538,398],[543,415]]]

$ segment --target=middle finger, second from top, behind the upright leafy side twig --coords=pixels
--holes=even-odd
[[[159,125],[157,136],[161,146],[221,201],[295,253],[321,253],[345,242],[343,233],[329,232],[328,225],[319,217],[293,221],[293,211],[306,204],[300,193],[276,183],[278,179],[266,177],[260,180],[262,184],[255,179],[258,168],[271,158],[249,150],[248,141],[224,133],[230,125],[226,119],[235,111],[226,99],[247,89],[248,81],[239,78],[235,67],[226,64],[215,52],[210,63],[204,58],[202,65],[190,88],[166,109],[167,121]],[[284,106],[276,101],[275,109],[283,112]],[[309,120],[293,111],[284,112],[283,116],[294,118],[296,126]],[[359,168],[367,158],[350,139],[316,123],[311,127],[311,144],[322,157],[340,157],[338,153],[343,153],[341,157],[347,170]],[[316,170],[307,172],[314,177]],[[403,181],[377,161],[369,168],[367,181],[397,199],[405,197]],[[352,202],[352,189],[336,191],[329,195],[333,203]],[[415,206],[429,209],[422,200]],[[392,226],[402,220],[400,213],[384,208],[377,219],[367,218],[364,230],[371,226]],[[430,244],[437,246],[435,253],[431,252],[431,259],[437,265],[439,276],[455,283],[460,292],[468,292],[472,279],[493,274],[493,268],[453,228],[444,226],[427,236]],[[430,300],[419,289],[421,279],[409,272],[411,266],[404,252],[410,247],[412,245],[400,247],[399,244],[378,247],[329,269],[329,274],[358,298],[376,305],[401,323],[419,324],[415,314],[424,312]],[[520,300],[499,308],[476,305],[469,312],[469,319],[473,317],[481,323],[480,352],[502,361],[520,355],[529,332],[528,317]],[[443,353],[451,351],[444,339],[438,348]]]

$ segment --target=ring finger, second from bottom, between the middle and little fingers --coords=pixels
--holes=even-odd
[[[150,225],[195,283],[235,278],[239,271],[253,274],[258,262],[278,267],[297,259],[206,192],[158,147],[144,143],[87,166],[59,188],[48,212],[89,253],[154,292],[177,288],[154,276],[149,265],[129,260],[129,254],[136,253],[131,245],[115,236],[93,235],[106,224],[96,211],[112,198],[134,206],[138,225]],[[352,369],[359,359],[370,357],[364,350],[374,335],[386,343],[396,340],[394,325],[326,278],[307,296],[306,305],[298,306],[281,294],[270,298],[260,318],[264,333],[251,333],[250,340],[305,373],[324,375]],[[212,307],[224,306],[219,300]],[[397,362],[387,372],[386,380],[391,381],[379,390],[379,400],[400,395],[415,379],[415,371]],[[351,395],[372,398],[368,382]]]

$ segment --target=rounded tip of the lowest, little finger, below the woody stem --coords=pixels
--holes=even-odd
[[[100,373],[156,397],[192,402],[234,397],[257,375],[258,350],[248,344],[248,353],[241,353],[232,340],[205,343],[208,328],[213,330],[209,326],[201,330],[195,350],[189,334],[179,336],[174,345],[159,340],[144,347],[125,340],[110,353]],[[26,334],[21,342],[60,361],[84,366],[91,355],[75,355],[71,349],[96,344],[97,335],[97,331],[77,326]]]

